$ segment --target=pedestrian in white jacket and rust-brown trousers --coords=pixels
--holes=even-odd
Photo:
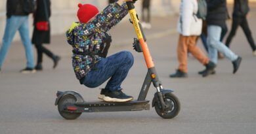
[[[179,68],[176,73],[170,75],[171,78],[184,78],[187,76],[187,54],[190,52],[200,63],[205,65],[206,69],[202,76],[213,73],[215,63],[209,60],[202,50],[196,45],[196,40],[202,33],[202,19],[197,18],[198,12],[197,0],[182,0],[180,5],[178,31],[179,44],[177,47],[177,55]]]

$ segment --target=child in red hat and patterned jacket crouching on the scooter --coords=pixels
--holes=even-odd
[[[68,43],[73,47],[72,65],[80,84],[96,88],[110,78],[98,96],[107,102],[133,99],[123,93],[121,88],[121,83],[133,65],[132,54],[123,51],[106,57],[112,41],[106,32],[127,15],[127,1],[133,0],[119,0],[102,12],[98,12],[93,5],[79,4],[79,22],[74,22],[66,32]]]

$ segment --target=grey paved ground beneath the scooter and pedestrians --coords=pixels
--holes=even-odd
[[[255,15],[253,4],[248,20],[256,39]],[[150,109],[84,113],[77,120],[64,120],[54,106],[57,90],[76,90],[85,100],[95,100],[100,90],[79,85],[72,70],[71,47],[64,35],[58,35],[53,36],[47,47],[62,57],[60,64],[53,70],[53,62],[45,56],[44,70],[35,74],[18,73],[25,67],[24,49],[20,42],[12,44],[0,74],[0,133],[256,133],[256,57],[242,30],[238,30],[231,44],[231,49],[243,58],[236,75],[232,74],[232,63],[222,59],[217,75],[202,78],[197,72],[203,66],[190,56],[188,78],[171,79],[169,74],[177,68],[176,22],[176,16],[154,17],[152,29],[145,30],[164,88],[175,90],[181,101],[181,112],[176,118],[163,120]],[[114,39],[110,54],[121,50],[134,54],[135,64],[123,88],[136,98],[146,75],[146,65],[142,54],[131,47],[135,32],[125,21],[110,33]],[[198,45],[203,48],[201,42]],[[151,101],[154,92],[151,87],[146,99]]]

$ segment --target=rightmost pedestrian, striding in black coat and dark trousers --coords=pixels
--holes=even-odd
[[[247,22],[247,14],[249,12],[248,0],[234,0],[234,9],[233,9],[233,18],[232,18],[232,28],[226,39],[226,46],[230,46],[230,42],[232,41],[234,35],[236,35],[236,30],[240,25],[244,31],[244,34],[251,46],[251,50],[253,50],[253,55],[256,56],[256,46],[251,35],[251,30],[249,29],[249,25]]]

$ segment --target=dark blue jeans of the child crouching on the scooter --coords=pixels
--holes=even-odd
[[[96,88],[110,78],[105,88],[110,91],[121,90],[121,83],[125,80],[132,66],[133,55],[131,52],[118,52],[107,58],[102,58],[96,63],[96,69],[89,71],[83,84],[89,88]]]

